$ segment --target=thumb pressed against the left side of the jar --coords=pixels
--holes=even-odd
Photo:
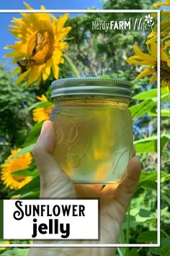
[[[53,122],[45,121],[32,149],[40,172],[40,197],[75,197],[73,183],[53,158],[55,145]]]

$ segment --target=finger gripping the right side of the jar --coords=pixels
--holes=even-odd
[[[138,184],[140,178],[141,166],[137,157],[133,157],[128,163],[127,171],[122,179],[122,182],[117,186],[115,190],[115,200],[122,205],[125,211],[128,209],[135,187]]]

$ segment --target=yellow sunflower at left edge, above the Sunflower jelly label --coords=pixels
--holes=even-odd
[[[1,165],[1,180],[10,189],[20,189],[25,184],[30,182],[32,178],[30,176],[21,176],[12,174],[13,171],[22,171],[29,168],[32,162],[32,155],[30,153],[24,153],[16,158],[13,158],[21,149],[12,150],[11,155],[6,158],[5,162]]]

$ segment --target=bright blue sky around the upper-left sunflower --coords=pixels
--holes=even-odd
[[[23,0],[0,0],[0,9],[25,9]],[[44,5],[46,9],[86,9],[96,7],[102,9],[103,3],[100,0],[26,0],[33,9],[40,9]],[[0,61],[4,61],[4,46],[14,43],[14,36],[8,32],[12,17],[21,17],[19,14],[0,13],[1,40],[0,40]],[[6,59],[5,59],[6,60]],[[9,60],[6,60],[9,62]],[[10,63],[10,62],[9,62]]]

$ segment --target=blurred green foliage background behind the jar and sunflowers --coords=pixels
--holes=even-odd
[[[128,0],[104,1],[104,9],[151,9],[153,1],[138,0],[132,3]],[[117,14],[83,14],[72,17],[68,25],[73,29],[68,35],[69,48],[67,56],[79,67],[81,76],[99,76],[131,80],[133,83],[133,101],[130,111],[134,122],[135,148],[142,163],[143,171],[135,191],[130,208],[122,224],[120,243],[156,243],[157,241],[157,89],[156,84],[148,85],[148,78],[135,79],[139,67],[129,65],[125,59],[133,55],[133,44],[137,43],[145,50],[146,36],[138,31],[123,32],[120,30],[94,31],[91,21],[96,17],[103,20],[117,20]],[[119,19],[125,15],[119,14]],[[47,82],[24,88],[24,82],[16,85],[15,77],[6,71],[4,63],[0,66],[0,162],[9,155],[12,148],[22,147],[18,153],[29,152],[36,142],[42,123],[32,121],[32,104],[35,108],[47,106],[50,103],[37,103],[36,95],[44,93],[50,100],[50,83],[53,74]],[[60,78],[73,77],[73,70],[67,61],[61,65]],[[161,90],[161,248],[118,248],[120,256],[169,256],[169,116],[170,95]],[[18,171],[17,175],[34,177],[32,182],[17,191],[12,191],[0,183],[1,198],[10,198],[21,194],[22,198],[38,198],[40,180],[35,163],[29,170]],[[12,240],[11,243],[16,241]],[[22,241],[23,242],[23,241]],[[25,243],[25,241],[23,242]],[[27,241],[29,243],[29,241]],[[1,250],[1,255],[27,255],[28,249],[7,248]]]

